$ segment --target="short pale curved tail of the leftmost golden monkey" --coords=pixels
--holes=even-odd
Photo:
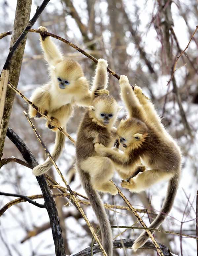
[[[61,154],[64,144],[65,144],[65,135],[63,133],[61,133],[60,131],[57,131],[54,148],[51,153],[51,156],[54,159],[54,161],[56,161],[58,159],[59,155]],[[53,165],[52,161],[48,157],[44,163],[39,164],[36,167],[34,167],[32,170],[32,173],[35,176],[40,176],[40,175],[46,173],[52,165]]]

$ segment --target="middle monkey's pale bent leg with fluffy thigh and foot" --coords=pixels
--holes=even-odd
[[[81,168],[89,173],[95,190],[117,194],[116,187],[109,181],[114,174],[114,166],[109,158],[90,156],[81,163]]]

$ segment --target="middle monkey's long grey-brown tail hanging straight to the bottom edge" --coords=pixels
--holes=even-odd
[[[90,175],[84,172],[79,166],[78,169],[81,176],[83,189],[87,194],[91,207],[93,208],[93,211],[100,224],[102,245],[107,255],[113,256],[112,230],[102,200],[100,199],[98,193],[91,186]]]

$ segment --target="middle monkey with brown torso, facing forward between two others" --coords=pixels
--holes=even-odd
[[[93,82],[94,87],[106,88],[107,66],[106,61],[102,65],[98,64]],[[83,116],[76,141],[76,167],[82,186],[100,224],[102,244],[108,256],[113,255],[112,230],[96,190],[117,194],[116,187],[110,182],[115,168],[109,158],[96,154],[94,143],[103,143],[107,147],[114,145],[117,134],[113,125],[119,109],[121,107],[118,107],[113,97],[107,95],[96,97]]]

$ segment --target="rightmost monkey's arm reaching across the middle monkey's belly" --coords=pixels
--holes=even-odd
[[[137,164],[140,164],[140,157],[129,158],[128,155],[122,154],[114,149],[106,148],[103,144],[95,143],[94,148],[97,154],[110,158],[122,170],[128,172],[129,168],[134,169]]]

